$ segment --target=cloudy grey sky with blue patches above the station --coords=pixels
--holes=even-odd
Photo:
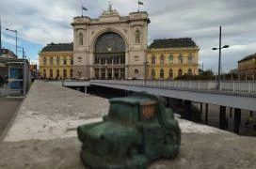
[[[222,26],[223,70],[237,68],[237,61],[256,53],[256,0],[141,0],[140,10],[149,13],[149,44],[154,38],[192,38],[200,47],[200,64],[217,70],[219,26]],[[137,10],[137,0],[111,0],[121,16]],[[2,46],[15,52],[18,45],[35,61],[50,42],[72,42],[72,18],[98,18],[108,0],[1,0]],[[18,53],[22,55],[21,52]]]

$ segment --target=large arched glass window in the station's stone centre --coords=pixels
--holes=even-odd
[[[99,71],[95,71],[95,77],[101,77],[102,79],[125,78],[125,42],[119,34],[106,32],[97,39],[94,64],[97,67],[95,69],[99,69],[99,66],[102,66]],[[113,73],[112,69],[116,68],[116,66],[119,66],[119,69],[116,69],[117,73]]]

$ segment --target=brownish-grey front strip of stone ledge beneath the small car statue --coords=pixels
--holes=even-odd
[[[253,137],[223,133],[193,133],[182,137],[178,158],[154,161],[149,168],[256,168],[256,139]],[[83,169],[80,146],[76,137],[4,142],[0,145],[0,168]]]

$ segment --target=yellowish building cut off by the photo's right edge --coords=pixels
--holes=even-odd
[[[256,78],[256,54],[248,55],[238,61],[238,74],[240,77]]]

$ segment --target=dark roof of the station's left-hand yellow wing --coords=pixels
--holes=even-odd
[[[63,51],[72,51],[72,43],[50,43],[47,46],[43,47],[41,52],[63,52]]]

